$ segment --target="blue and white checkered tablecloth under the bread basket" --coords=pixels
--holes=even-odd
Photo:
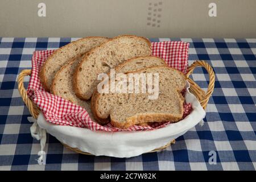
[[[191,43],[189,64],[206,60],[216,82],[204,126],[189,130],[166,150],[123,159],[81,155],[48,135],[47,164],[38,165],[40,144],[31,137],[30,113],[19,96],[16,78],[22,69],[31,68],[35,50],[59,48],[71,40],[76,39],[0,38],[0,170],[256,169],[256,39],[171,39]],[[151,39],[164,40],[170,39]],[[192,78],[207,88],[204,69],[195,69]],[[209,163],[210,151],[216,152],[216,164]]]

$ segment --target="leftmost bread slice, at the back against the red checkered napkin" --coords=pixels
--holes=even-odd
[[[50,90],[52,79],[55,73],[68,61],[77,55],[88,52],[93,47],[100,45],[108,40],[102,37],[87,37],[71,42],[59,49],[57,49],[51,56],[48,57],[39,72],[39,78],[42,82],[43,88]]]

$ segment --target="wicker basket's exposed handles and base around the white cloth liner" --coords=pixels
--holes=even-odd
[[[196,67],[204,67],[207,70],[208,74],[209,74],[209,85],[208,85],[208,90],[207,90],[206,93],[191,78],[189,78],[189,75],[192,74],[193,70]],[[30,74],[31,74],[31,69],[24,69],[22,72],[19,73],[19,76],[18,76],[18,90],[19,90],[20,96],[22,97],[22,100],[24,101],[24,103],[28,107],[28,110],[30,111],[32,117],[37,119],[38,115],[40,113],[40,110],[34,104],[34,102],[32,102],[30,100],[30,98],[28,98],[26,89],[24,88],[24,84],[23,84],[24,77],[25,76],[30,76]],[[209,101],[209,98],[213,93],[213,89],[214,89],[215,75],[214,75],[212,67],[210,67],[210,65],[206,61],[195,61],[191,66],[188,67],[187,73],[186,73],[185,76],[186,76],[189,84],[191,85],[190,88],[189,88],[189,91],[196,96],[196,98],[197,98],[197,100],[199,100],[201,106],[205,109],[206,106],[207,106],[207,103]],[[156,152],[156,151],[163,150],[164,148],[166,148],[166,147],[168,147],[168,146],[170,146],[171,144],[174,144],[174,143],[175,143],[175,140],[172,140],[171,142],[168,142],[165,146],[155,148],[155,150],[152,150],[151,152]],[[64,143],[62,143],[62,144],[65,147],[67,147],[70,150],[75,151],[77,153],[85,154],[85,155],[92,155],[88,152],[83,152],[83,151],[79,150],[79,148],[72,148],[72,147],[69,147],[67,144],[64,144]]]

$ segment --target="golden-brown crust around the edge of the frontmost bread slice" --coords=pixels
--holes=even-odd
[[[158,67],[164,67],[165,66],[154,66],[154,67],[148,67],[148,68],[158,68]],[[148,69],[146,68],[146,69]],[[144,68],[145,69],[145,68]],[[168,69],[174,69],[177,72],[180,73],[181,76],[184,77],[184,80],[186,80],[186,77],[184,75],[183,72],[179,71],[178,69],[175,68],[171,68],[168,67]],[[133,72],[127,72],[126,74],[129,73],[138,73],[140,71],[142,71],[143,69],[139,69],[137,71],[133,71]],[[184,85],[185,86],[185,85]],[[162,121],[173,121],[173,122],[177,122],[179,121],[179,119],[181,119],[183,117],[183,102],[184,102],[184,97],[182,96],[182,94],[180,93],[183,89],[177,89],[177,93],[179,93],[180,96],[180,108],[181,108],[181,114],[163,114],[163,113],[148,113],[148,114],[137,114],[137,115],[133,115],[129,118],[126,118],[126,122],[118,122],[118,121],[114,121],[113,118],[110,117],[110,121],[112,123],[113,126],[115,127],[119,127],[122,129],[126,129],[127,127],[133,126],[133,125],[138,125],[140,123],[146,123],[146,122],[162,122]],[[102,119],[100,118],[100,116],[97,113],[98,110],[98,98],[100,97],[100,93],[98,93],[97,90],[94,90],[93,96],[92,96],[92,100],[91,100],[91,109],[92,109],[92,113],[94,114],[94,117],[98,118],[98,119]]]

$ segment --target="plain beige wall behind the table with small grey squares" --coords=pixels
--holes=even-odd
[[[40,2],[46,17],[38,16]],[[211,2],[217,17],[208,15]],[[7,37],[256,38],[256,0],[1,0],[0,9]]]

